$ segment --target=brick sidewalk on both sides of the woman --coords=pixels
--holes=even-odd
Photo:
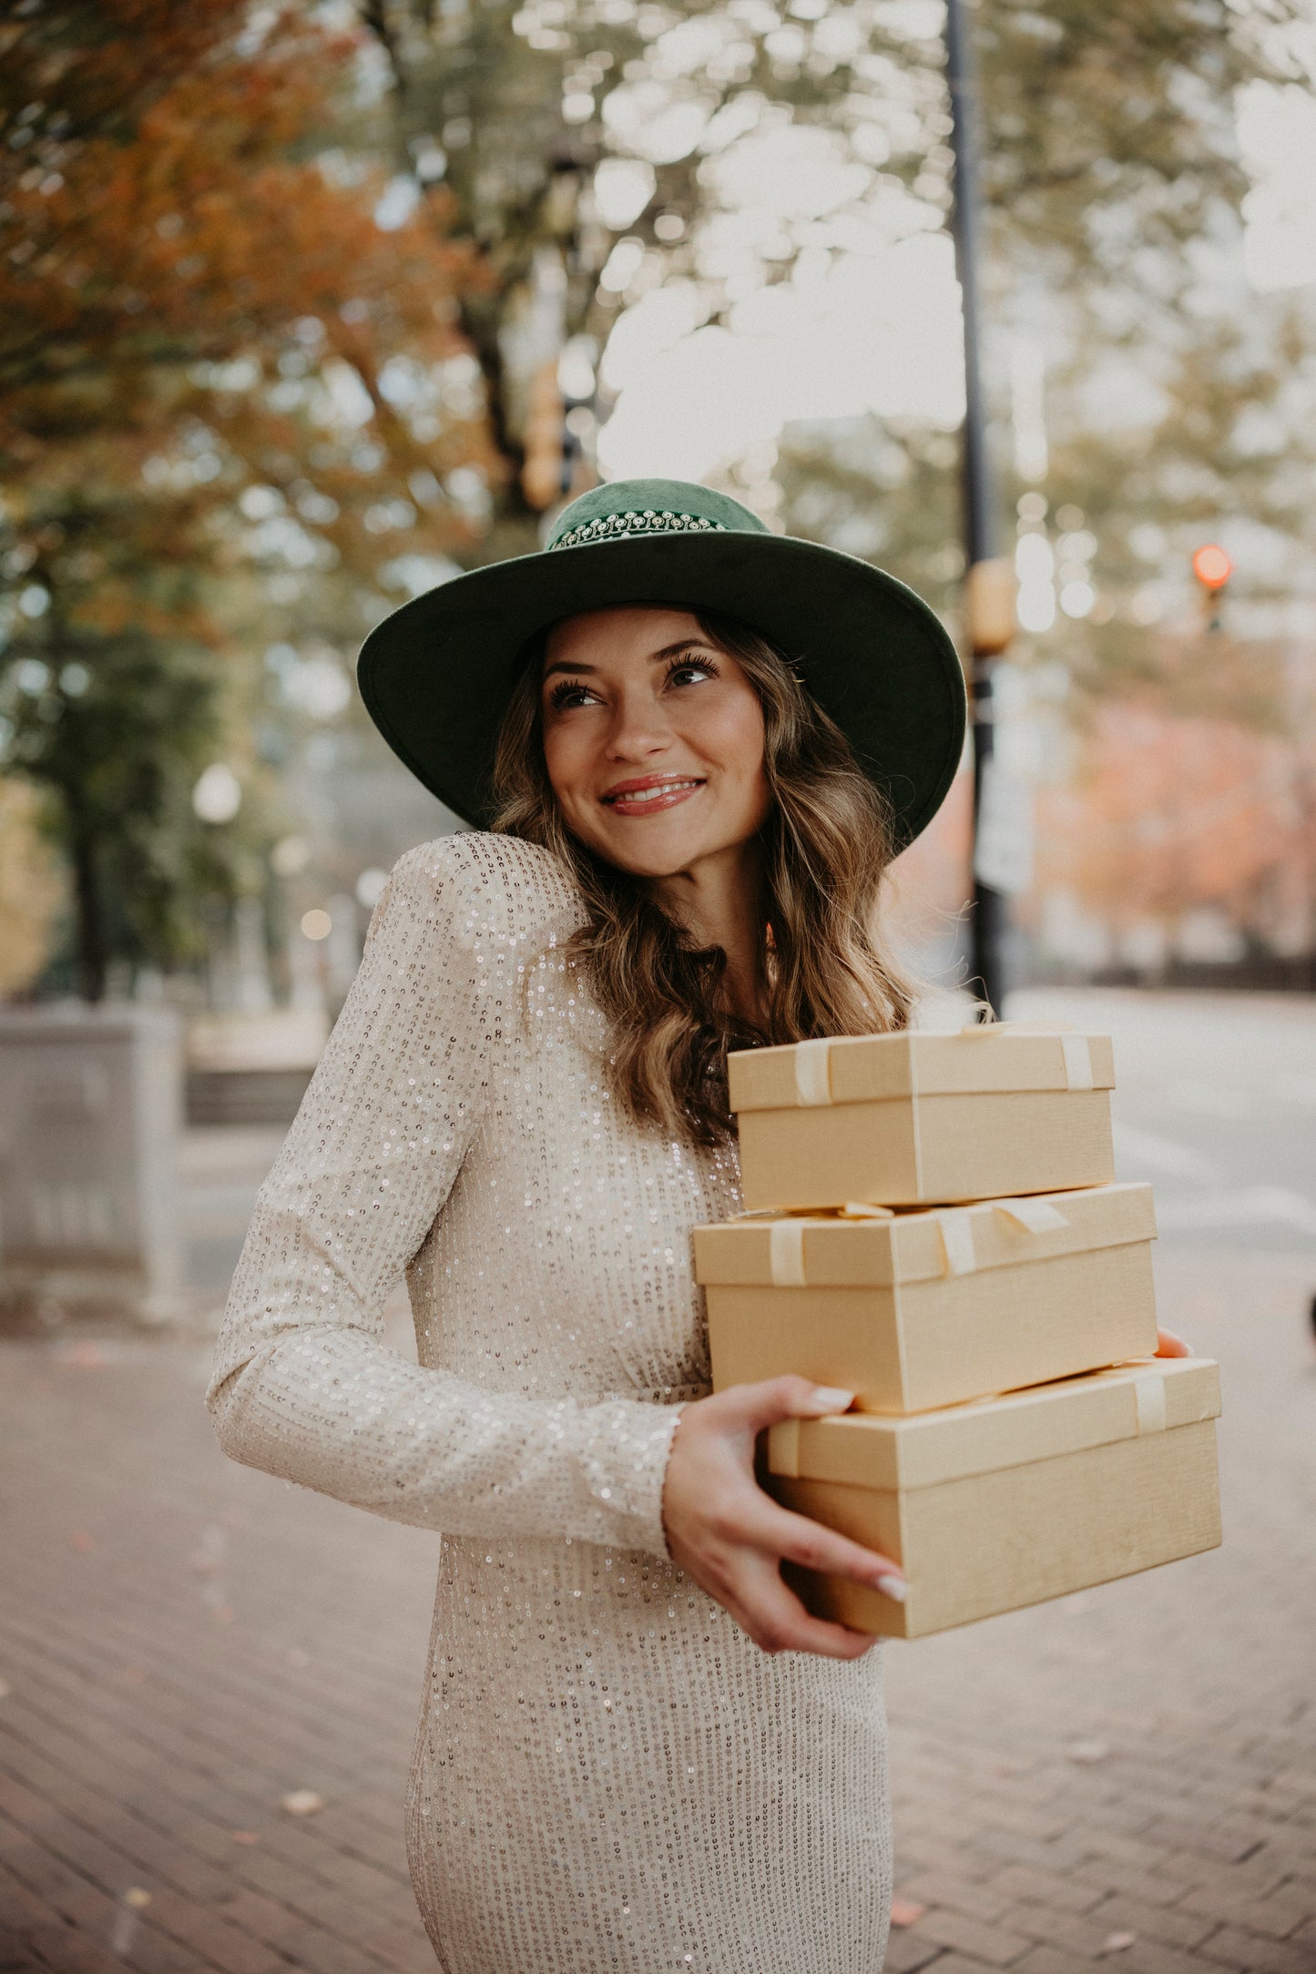
[[[1316,1970],[1316,1257],[1160,1277],[1225,1368],[1227,1546],[888,1650],[892,1970]],[[0,1350],[0,1968],[430,1970],[399,1826],[434,1538],[227,1465],[205,1368]]]

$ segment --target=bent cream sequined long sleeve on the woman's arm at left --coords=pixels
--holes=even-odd
[[[679,1409],[491,1392],[381,1340],[385,1299],[479,1131],[517,1019],[515,898],[474,908],[475,845],[410,851],[233,1277],[207,1405],[223,1451],[456,1536],[665,1554]],[[543,857],[545,853],[531,853]]]

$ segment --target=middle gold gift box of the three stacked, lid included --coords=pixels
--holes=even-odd
[[[1152,1188],[695,1228],[712,1386],[799,1372],[925,1411],[1150,1356]]]

